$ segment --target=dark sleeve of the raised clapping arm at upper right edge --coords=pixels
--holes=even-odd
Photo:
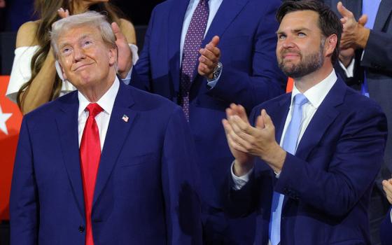
[[[361,66],[366,66],[379,71],[392,71],[392,35],[370,30],[365,53],[360,62]]]

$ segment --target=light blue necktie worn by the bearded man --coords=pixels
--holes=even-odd
[[[282,147],[285,151],[295,154],[302,121],[302,106],[308,102],[304,94],[295,94],[293,114],[284,135]],[[284,195],[274,192],[272,196],[271,220],[269,221],[269,241],[272,245],[281,241],[281,209]]]

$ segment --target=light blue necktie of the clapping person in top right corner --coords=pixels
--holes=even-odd
[[[367,15],[367,22],[365,27],[367,29],[373,29],[374,22],[376,21],[377,11],[379,10],[379,3],[381,0],[363,0],[362,1],[362,14]],[[363,76],[363,84],[360,87],[360,93],[369,97],[369,89],[367,88],[367,72]]]

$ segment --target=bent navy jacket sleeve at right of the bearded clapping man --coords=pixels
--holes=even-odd
[[[384,154],[386,118],[371,105],[346,118],[335,150],[316,146],[308,162],[287,153],[275,190],[325,214],[347,214],[370,190]],[[330,162],[321,163],[328,154]]]

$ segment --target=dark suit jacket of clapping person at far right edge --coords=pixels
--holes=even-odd
[[[332,10],[337,12],[336,6],[339,0],[324,0]],[[342,0],[346,8],[351,10],[356,18],[362,15],[362,1]],[[392,128],[392,0],[382,0],[377,12],[374,27],[370,30],[369,40],[367,41],[365,52],[361,60],[362,51],[356,52],[356,69],[354,78],[350,85],[360,87],[358,84],[363,81],[364,69],[367,69],[367,85],[369,94],[380,106],[388,119],[388,128]],[[345,76],[343,72],[340,73]],[[386,142],[384,164],[381,166],[381,173],[377,177],[377,186],[382,191],[381,181],[391,178],[392,173],[392,130],[388,132]]]

